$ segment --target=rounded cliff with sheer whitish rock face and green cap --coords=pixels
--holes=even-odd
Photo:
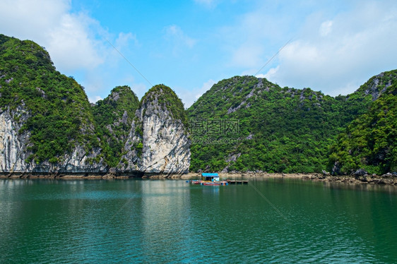
[[[190,141],[186,126],[181,100],[167,86],[155,85],[136,110],[119,172],[189,172]]]

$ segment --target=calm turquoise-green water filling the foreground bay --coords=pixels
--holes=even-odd
[[[397,189],[0,181],[0,263],[396,263]]]

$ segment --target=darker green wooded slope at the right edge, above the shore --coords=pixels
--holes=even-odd
[[[374,76],[356,93],[371,94],[369,110],[340,133],[331,148],[328,168],[370,174],[397,171],[397,70]]]

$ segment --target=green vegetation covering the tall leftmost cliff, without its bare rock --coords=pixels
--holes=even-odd
[[[28,162],[57,162],[76,145],[99,146],[83,87],[56,71],[35,42],[0,35],[0,95],[2,111],[22,107],[30,115],[20,131],[30,132]]]

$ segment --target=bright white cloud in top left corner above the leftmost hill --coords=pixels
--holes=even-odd
[[[103,63],[103,45],[96,40],[99,23],[85,13],[69,13],[66,0],[6,0],[0,9],[0,30],[46,47],[60,71],[95,68]]]

